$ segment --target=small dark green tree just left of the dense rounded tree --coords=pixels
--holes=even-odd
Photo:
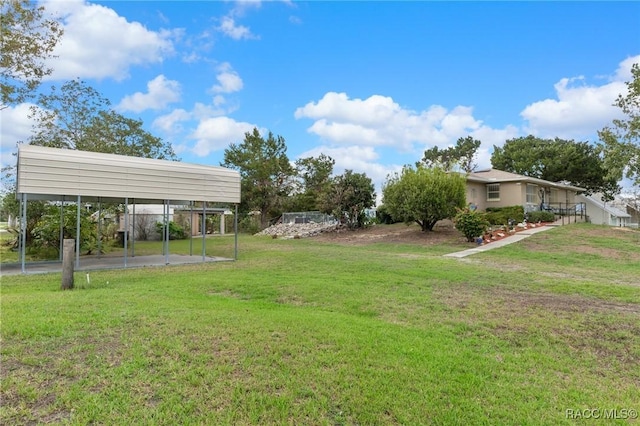
[[[366,174],[345,170],[332,179],[331,188],[323,195],[321,211],[350,229],[361,228],[367,219],[365,210],[375,205],[375,199],[375,187]]]

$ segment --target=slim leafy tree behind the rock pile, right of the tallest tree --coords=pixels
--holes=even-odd
[[[321,200],[331,188],[331,174],[335,163],[333,158],[325,154],[296,160],[299,189],[292,197],[292,210],[320,210]]]

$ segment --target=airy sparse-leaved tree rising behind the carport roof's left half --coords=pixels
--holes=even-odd
[[[142,122],[124,117],[111,103],[81,80],[55,86],[31,108],[32,145],[79,149],[133,157],[175,160],[170,143],[142,128]]]

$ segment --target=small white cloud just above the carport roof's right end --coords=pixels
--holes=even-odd
[[[218,151],[238,143],[244,139],[246,132],[251,132],[255,124],[235,121],[229,117],[207,118],[198,124],[191,135],[196,140],[193,152],[199,157],[205,157],[212,151]]]

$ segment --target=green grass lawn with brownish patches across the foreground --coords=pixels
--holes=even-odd
[[[241,236],[237,262],[73,291],[2,277],[0,423],[638,421],[640,232],[447,250]]]

